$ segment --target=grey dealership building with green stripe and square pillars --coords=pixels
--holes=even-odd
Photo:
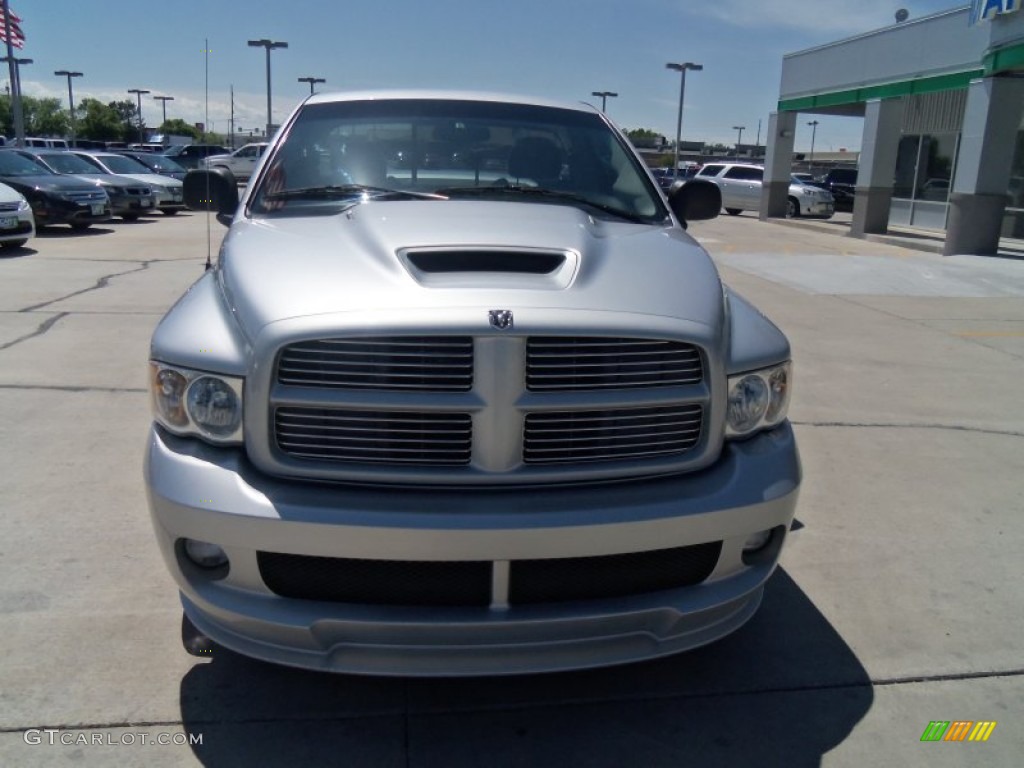
[[[1024,236],[1022,4],[975,0],[786,55],[761,217],[785,215],[798,121],[857,116],[851,234],[944,230],[944,253],[982,255]]]

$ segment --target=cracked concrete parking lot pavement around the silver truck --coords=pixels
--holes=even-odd
[[[690,231],[793,343],[782,565],[720,643],[499,679],[187,655],[142,489],[145,359],[206,218],[3,254],[0,765],[1020,765],[1024,262],[746,216]],[[932,721],[997,725],[922,742]]]

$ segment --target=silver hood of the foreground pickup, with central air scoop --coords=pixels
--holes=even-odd
[[[415,258],[467,250],[470,261],[484,254],[475,262],[482,269],[438,270]],[[508,260],[490,269],[488,252],[512,261],[519,253],[564,259],[556,258],[550,273],[522,273]],[[412,311],[427,318],[460,310],[476,317],[481,308],[512,309],[517,328],[530,310],[549,309],[710,326],[722,305],[711,258],[679,227],[598,220],[574,207],[532,203],[369,202],[333,215],[239,216],[218,278],[250,338],[298,317]]]

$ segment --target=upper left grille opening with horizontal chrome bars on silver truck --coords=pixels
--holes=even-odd
[[[278,381],[326,389],[465,392],[473,386],[473,339],[392,336],[303,341],[282,351]]]

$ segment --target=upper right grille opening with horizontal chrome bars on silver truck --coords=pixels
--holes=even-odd
[[[680,386],[702,378],[700,351],[682,341],[552,336],[526,343],[532,391]]]

